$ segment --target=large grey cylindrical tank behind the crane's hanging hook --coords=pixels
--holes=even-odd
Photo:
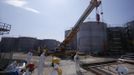
[[[77,48],[80,52],[94,53],[105,50],[107,25],[103,22],[84,22],[77,33]]]

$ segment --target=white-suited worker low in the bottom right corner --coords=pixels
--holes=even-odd
[[[122,61],[118,62],[118,65],[116,68],[118,75],[126,75],[128,73],[128,68],[125,67],[122,63],[123,63]]]

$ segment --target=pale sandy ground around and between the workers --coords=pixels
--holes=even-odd
[[[26,59],[26,54],[23,53],[14,53],[13,59]],[[47,56],[45,59],[45,67],[44,67],[44,75],[51,75],[52,72],[52,67],[51,67],[51,56]],[[99,57],[82,57],[81,58],[81,63],[80,64],[87,64],[86,68],[83,69],[81,67],[80,71],[76,73],[75,69],[75,62],[70,59],[64,59],[61,60],[60,66],[62,67],[63,70],[63,75],[117,75],[117,72],[115,71],[117,67],[116,62],[111,62],[110,64],[95,64],[95,65],[90,65],[93,63],[103,63],[103,62],[108,62],[108,61],[115,61],[116,59],[113,58],[99,58]],[[39,61],[39,56],[33,56],[32,62],[37,65]],[[128,75],[133,75],[134,74],[134,65],[133,64],[128,64],[128,63],[123,63],[128,68]],[[37,75],[37,68],[34,70],[32,75]]]

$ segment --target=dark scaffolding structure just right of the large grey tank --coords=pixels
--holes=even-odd
[[[108,48],[110,54],[123,54],[124,53],[124,35],[123,27],[110,27],[108,28]]]

